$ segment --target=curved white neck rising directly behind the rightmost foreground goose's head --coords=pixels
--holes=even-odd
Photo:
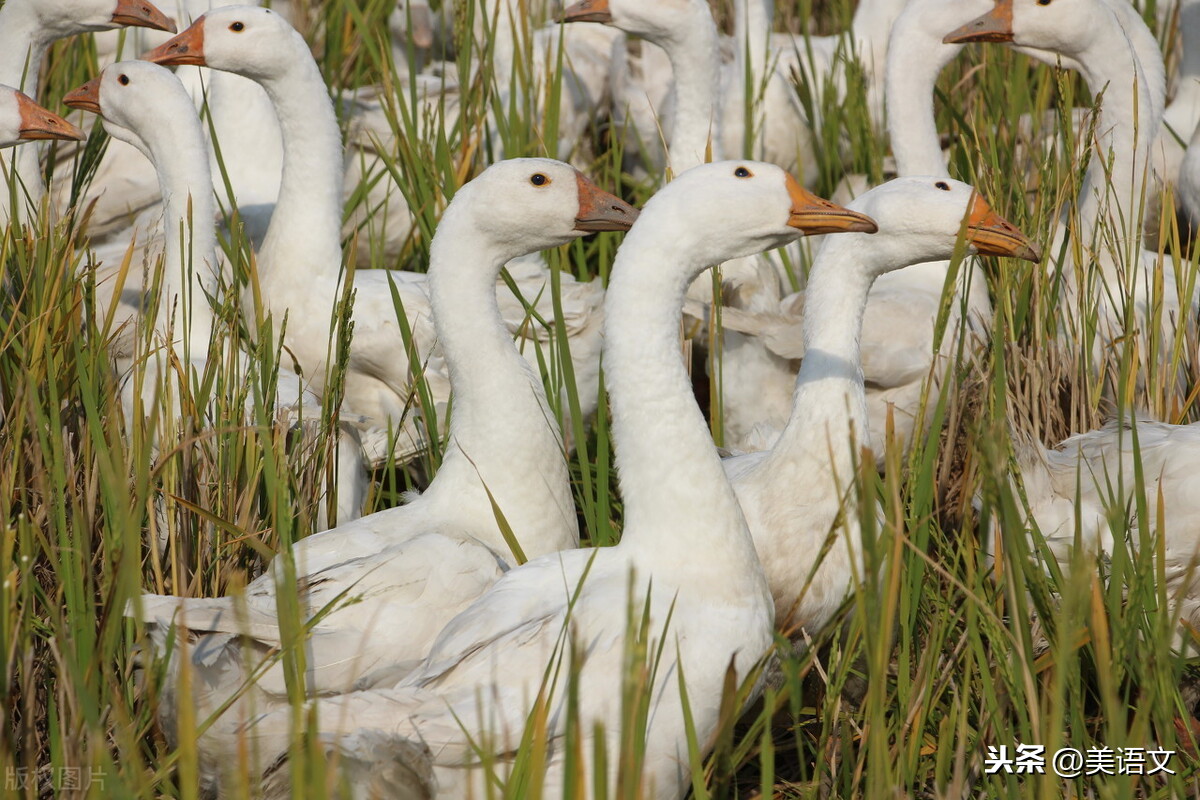
[[[934,86],[962,50],[943,44],[935,24],[943,5],[914,0],[896,19],[887,56],[887,118],[896,174],[949,178],[934,116]],[[967,17],[966,20],[968,20]],[[964,22],[966,22],[964,20]],[[953,30],[954,25],[946,25]]]

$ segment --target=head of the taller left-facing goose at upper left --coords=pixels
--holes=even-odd
[[[308,44],[283,17],[270,8],[226,6],[199,17],[142,58],[163,66],[206,66],[270,80],[293,70],[298,54],[310,55]]]

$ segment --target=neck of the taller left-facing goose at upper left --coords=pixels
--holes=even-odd
[[[317,62],[300,35],[292,37],[292,67],[259,82],[283,138],[280,197],[258,253],[268,284],[293,279],[288,264],[305,264],[308,277],[326,278],[336,278],[342,264],[342,134]]]

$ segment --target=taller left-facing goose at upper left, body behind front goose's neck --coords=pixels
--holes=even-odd
[[[283,131],[283,182],[266,237],[258,252],[258,275],[266,311],[275,325],[288,314],[286,344],[304,377],[324,389],[330,351],[330,320],[341,296],[340,221],[342,146],[332,103],[307,43],[278,14],[266,8],[232,6],[211,11],[191,28],[148,53],[160,64],[191,64],[228,70],[257,80],[275,104]],[[304,279],[298,281],[300,273]],[[402,299],[413,332],[418,363],[433,355],[437,338],[430,320],[426,276],[414,272],[361,270],[354,273],[354,341],[346,375],[346,408],[378,426],[376,439],[398,432],[396,446],[413,455],[424,443],[413,423],[412,365],[396,324],[391,285]],[[518,288],[545,319],[553,318],[544,267],[520,276]],[[596,283],[563,278],[564,321],[580,386],[582,414],[595,409],[599,383],[600,313],[604,290]],[[524,306],[506,289],[499,291],[510,330],[535,338]],[[536,363],[536,343],[522,342],[526,359]],[[434,375],[434,392],[448,389]],[[436,402],[445,402],[436,395]],[[385,446],[372,452],[383,462]]]

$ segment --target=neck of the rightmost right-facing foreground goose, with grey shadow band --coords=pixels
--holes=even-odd
[[[792,413],[762,462],[763,475],[787,481],[785,464],[811,464],[845,491],[853,486],[857,447],[868,441],[866,390],[860,339],[874,266],[894,261],[865,234],[828,236],[804,296],[804,361],[796,378]]]

